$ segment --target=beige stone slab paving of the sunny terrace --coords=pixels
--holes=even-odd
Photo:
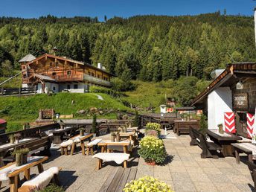
[[[138,167],[136,178],[154,176],[167,182],[176,192],[254,191],[246,164],[236,164],[234,157],[201,159],[202,150],[189,145],[189,135],[176,136],[172,131],[170,135],[173,138],[164,139],[164,144],[172,158],[164,166],[150,166],[145,164],[143,159],[130,159],[128,167]],[[82,156],[80,152],[74,156],[60,156],[60,152],[55,151],[54,156],[44,164],[44,167],[63,167],[60,180],[66,191],[90,192],[99,191],[117,167],[113,163],[96,170],[96,162],[92,156]],[[35,171],[36,169],[33,169],[31,172]]]

